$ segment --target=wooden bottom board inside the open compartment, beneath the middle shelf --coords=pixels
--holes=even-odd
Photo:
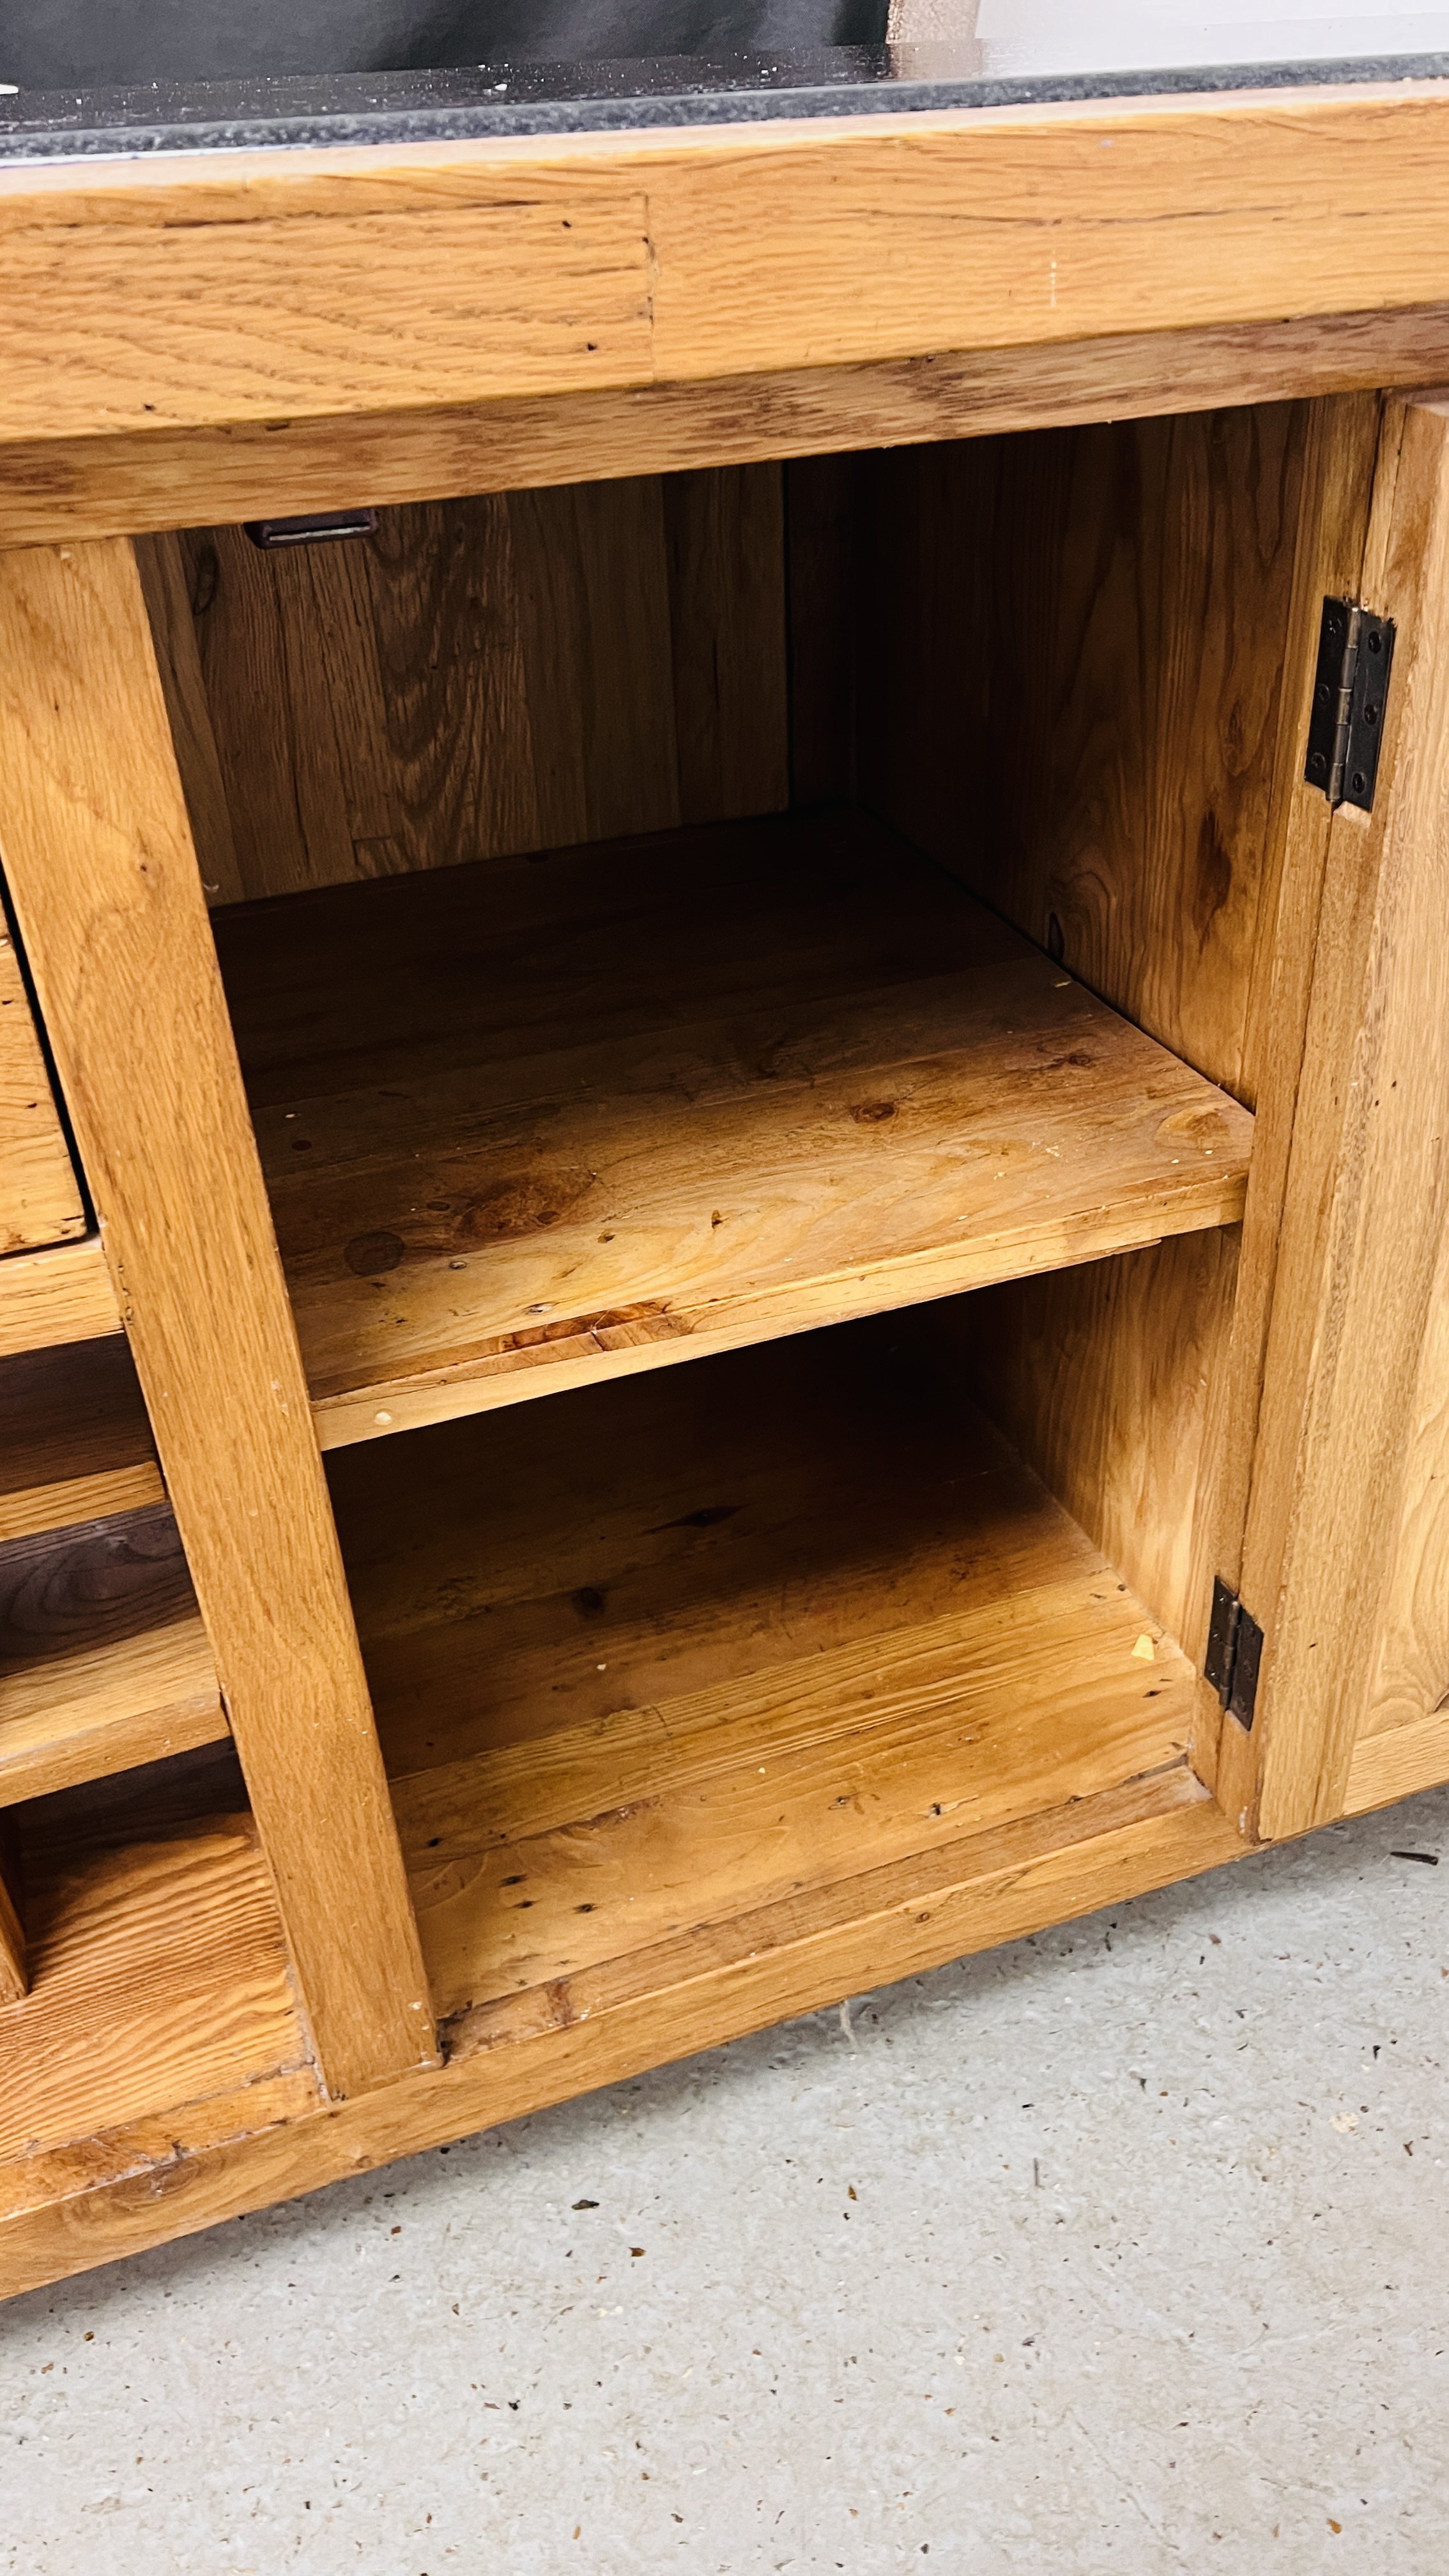
[[[1199,1795],[1191,1664],[931,1321],[330,1461],[454,2048]]]

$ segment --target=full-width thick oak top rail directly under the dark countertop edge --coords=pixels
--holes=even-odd
[[[1408,309],[1446,129],[1423,82],[10,167],[0,435]]]

